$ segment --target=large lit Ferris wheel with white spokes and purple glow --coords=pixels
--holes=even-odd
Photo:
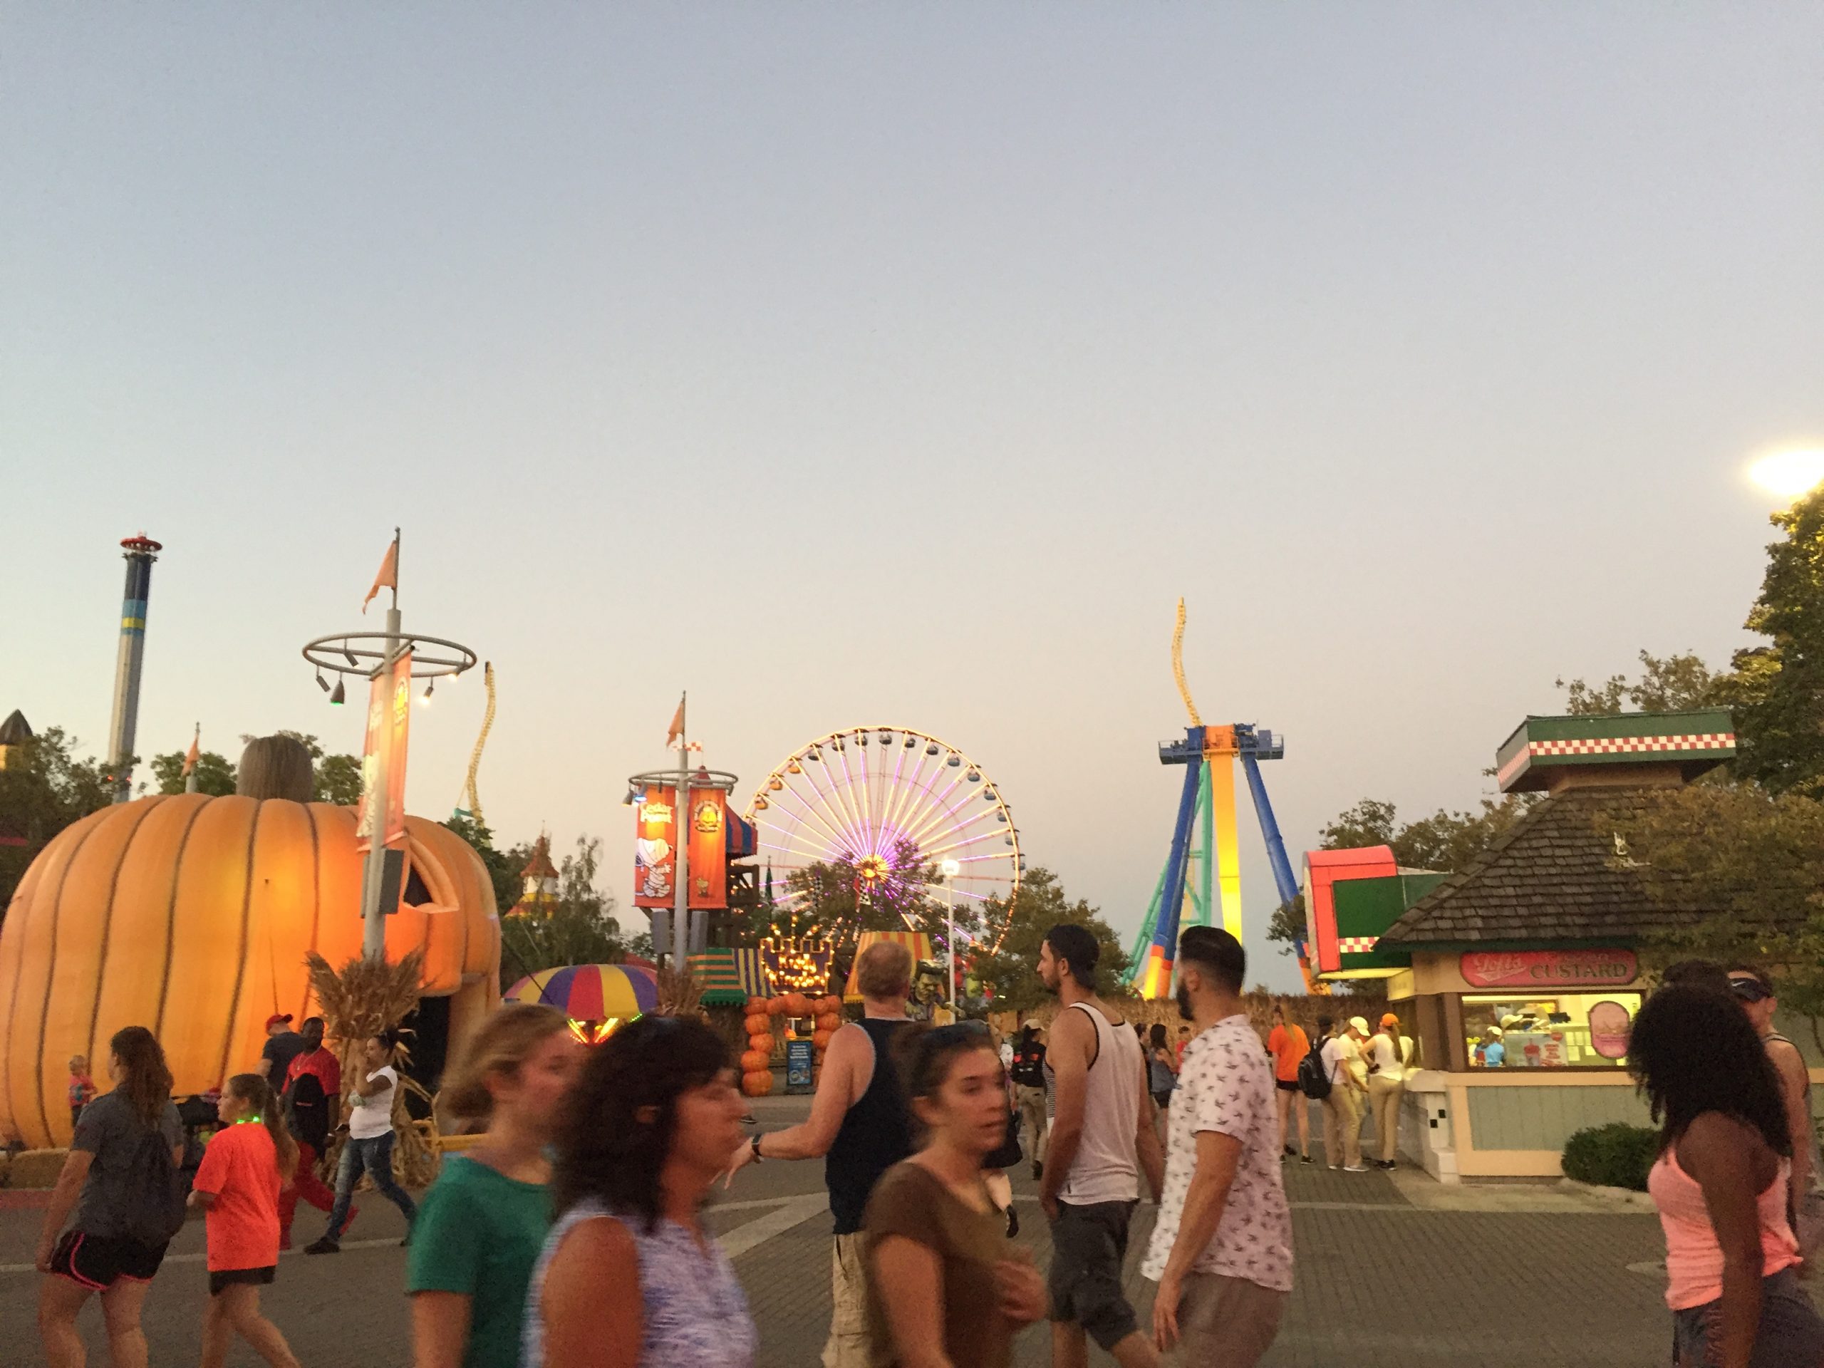
[[[755,845],[781,877],[773,901],[801,896],[790,876],[850,865],[857,892],[890,888],[938,865],[958,899],[1007,899],[1025,859],[1001,790],[956,746],[903,726],[857,726],[799,746],[753,792]]]

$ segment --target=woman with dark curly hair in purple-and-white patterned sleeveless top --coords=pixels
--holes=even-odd
[[[748,1301],[702,1224],[744,1111],[702,1021],[642,1016],[595,1047],[558,1127],[527,1368],[751,1368]]]

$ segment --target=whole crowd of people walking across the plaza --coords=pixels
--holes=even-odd
[[[823,1158],[826,1368],[1005,1368],[1038,1321],[1056,1368],[1085,1364],[1091,1339],[1124,1368],[1162,1355],[1246,1368],[1291,1291],[1282,1164],[1311,1162],[1302,1098],[1324,1105],[1332,1167],[1366,1171],[1364,1104],[1390,1167],[1412,1042],[1394,1014],[1375,1031],[1321,1016],[1313,1036],[1284,1009],[1262,1042],[1240,996],[1246,956],[1218,928],[1180,939],[1176,1042],[1162,1023],[1127,1029],[1098,996],[1096,959],[1085,928],[1052,927],[1036,970],[1058,1012],[1001,1047],[985,1023],[916,1023],[910,954],[870,945],[863,1014],[834,1032],[810,1116],[751,1135],[730,1049],[704,1021],[644,1016],[586,1049],[562,1012],[507,1005],[445,1078],[443,1109],[480,1138],[421,1204],[392,1175],[392,1036],[358,1045],[330,1189],[310,1169],[339,1129],[343,1078],[319,1018],[299,1032],[272,1020],[257,1069],[221,1089],[188,1184],[164,1052],[128,1027],[109,1040],[109,1091],[71,1060],[77,1133],[36,1249],[46,1359],[84,1363],[77,1315],[98,1297],[115,1368],[148,1363],[140,1308],[188,1204],[206,1222],[204,1368],[235,1337],[295,1366],[261,1288],[295,1202],[326,1209],[306,1253],[332,1253],[365,1173],[409,1224],[414,1368],[751,1368],[755,1324],[704,1224],[711,1189],[748,1166]],[[1824,1364],[1824,1321],[1798,1280],[1824,1244],[1820,1160],[1804,1060],[1775,1009],[1762,970],[1689,961],[1634,1020],[1629,1067],[1662,1127],[1649,1193],[1680,1364]],[[1012,1238],[1003,1175],[1027,1156],[1051,1237],[1043,1275]],[[1156,1284],[1145,1322],[1122,1284],[1142,1197],[1158,1207],[1140,1255]]]

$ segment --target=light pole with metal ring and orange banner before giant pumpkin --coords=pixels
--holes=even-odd
[[[398,578],[398,571],[394,571]],[[427,655],[420,648],[438,648],[445,655]],[[451,642],[441,637],[418,637],[405,635],[399,627],[399,591],[392,589],[392,606],[387,609],[387,629],[385,631],[345,631],[332,637],[317,637],[314,642],[305,646],[305,660],[317,668],[317,677],[328,669],[332,675],[358,675],[368,680],[368,691],[376,680],[392,675],[394,664],[405,655],[410,655],[410,679],[430,680],[440,675],[460,675],[465,669],[472,669],[476,664],[476,653],[460,642]],[[407,680],[409,684],[409,680]],[[341,693],[341,680],[336,682],[336,691]],[[430,697],[430,684],[425,684],[425,697]],[[332,697],[330,702],[339,702]],[[389,699],[389,708],[392,700]],[[407,704],[409,706],[409,704]],[[368,702],[372,708],[372,700]],[[389,768],[398,762],[405,764],[405,757],[392,757],[392,726],[381,726],[378,739],[372,742],[372,753],[363,755],[361,779],[365,795],[365,815],[368,823],[368,846],[367,846],[367,865],[361,870],[361,954],[367,959],[385,959],[387,958],[387,910],[385,890],[392,885],[394,897],[398,897],[399,879],[403,877],[405,852],[401,850],[394,861],[392,876],[389,879],[387,870],[387,793],[390,786]],[[367,764],[372,761],[372,768]],[[403,792],[403,786],[401,786]]]

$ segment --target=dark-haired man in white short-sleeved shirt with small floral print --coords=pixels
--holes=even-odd
[[[1178,1010],[1197,1025],[1171,1100],[1166,1191],[1140,1273],[1158,1279],[1153,1335],[1182,1363],[1253,1368],[1291,1293],[1291,1211],[1279,1173],[1273,1071],[1242,1009],[1233,936],[1178,939]]]

